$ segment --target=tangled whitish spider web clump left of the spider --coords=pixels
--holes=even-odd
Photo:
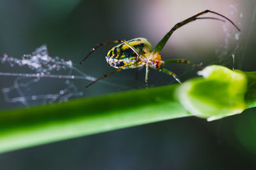
[[[21,103],[25,106],[30,106],[31,104],[38,103],[66,102],[70,98],[84,96],[84,92],[77,88],[74,80],[97,80],[97,78],[85,74],[77,69],[77,67],[74,67],[71,60],[51,57],[45,45],[37,48],[35,52],[23,55],[21,59],[9,57],[7,54],[4,54],[3,57],[0,58],[0,62],[1,64],[8,64],[13,70],[15,67],[22,67],[22,70],[24,70],[23,67],[26,67],[26,71],[28,71],[26,73],[0,72],[0,76],[15,77],[13,85],[4,87],[1,90],[6,103]],[[18,70],[20,71],[19,68]],[[51,85],[50,87],[52,88],[40,87],[43,85],[42,81],[44,81],[45,78],[51,79],[48,80],[47,83],[56,83],[56,85]],[[52,79],[57,81],[52,81]],[[127,88],[108,81],[100,82],[119,88]],[[38,90],[36,87],[40,87],[40,89],[43,90]],[[62,88],[60,89],[58,87]],[[33,88],[36,90],[33,90]],[[51,93],[45,94],[49,89],[51,89]]]

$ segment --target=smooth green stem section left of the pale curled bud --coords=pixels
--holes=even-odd
[[[189,113],[177,85],[133,90],[0,113],[0,152],[172,118]]]

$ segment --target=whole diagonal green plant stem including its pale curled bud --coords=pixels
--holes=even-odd
[[[2,111],[0,153],[192,114],[216,120],[256,106],[256,72],[209,66],[202,73],[182,85]]]

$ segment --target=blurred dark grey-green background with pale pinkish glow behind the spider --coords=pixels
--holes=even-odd
[[[173,33],[164,46],[163,59],[221,64],[255,71],[255,1],[0,1],[0,56],[21,58],[41,45],[49,55],[72,60],[74,67],[99,77],[114,69],[105,55],[111,45],[99,48],[83,65],[79,62],[97,43],[115,39],[147,38],[152,46],[171,27],[206,9],[233,20],[240,34],[226,22],[199,20]],[[205,15],[216,17],[214,15]],[[239,38],[238,38],[239,37]],[[196,69],[182,64],[167,66],[181,80],[196,76]],[[1,72],[26,73],[25,67],[2,64]],[[138,74],[138,78],[136,75]],[[121,71],[85,89],[88,80],[73,80],[83,96],[145,88],[145,69]],[[15,77],[0,76],[0,88]],[[64,81],[42,78],[26,95],[58,92]],[[149,86],[176,83],[150,70]],[[15,96],[15,94],[12,94]],[[1,110],[24,107],[7,103]],[[42,104],[35,101],[29,105]],[[28,105],[26,105],[28,107]],[[83,138],[2,153],[0,169],[254,169],[256,167],[256,110],[206,122],[196,117],[157,122]]]

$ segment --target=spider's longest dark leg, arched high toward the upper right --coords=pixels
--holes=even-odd
[[[234,22],[232,22],[232,20],[228,19],[228,18],[225,17],[224,15],[221,15],[220,13],[216,13],[216,12],[214,12],[214,11],[205,10],[205,11],[202,11],[202,12],[200,12],[200,13],[198,13],[198,14],[196,14],[196,15],[194,15],[194,16],[192,16],[192,17],[190,17],[190,18],[188,18],[188,19],[186,19],[186,20],[184,20],[184,21],[182,21],[182,22],[179,22],[178,24],[174,25],[174,27],[172,27],[172,29],[171,29],[169,32],[167,32],[167,34],[164,36],[164,38],[161,39],[161,41],[159,41],[159,43],[157,43],[156,48],[154,49],[153,52],[155,52],[155,53],[161,52],[161,50],[163,49],[164,45],[166,44],[166,42],[168,41],[168,39],[170,38],[170,36],[172,35],[172,33],[173,33],[176,29],[178,29],[179,27],[182,27],[183,25],[186,25],[186,24],[188,24],[189,22],[193,22],[193,21],[198,20],[198,19],[214,19],[214,20],[216,20],[216,18],[212,18],[212,17],[198,18],[198,16],[204,15],[205,13],[214,13],[214,14],[216,14],[216,15],[219,15],[220,17],[225,18],[225,19],[228,20],[232,25],[234,25],[234,27],[236,27],[236,29],[237,29],[238,31],[240,31],[240,29],[237,27],[237,25],[234,24]],[[220,19],[217,19],[217,20],[220,20]]]

